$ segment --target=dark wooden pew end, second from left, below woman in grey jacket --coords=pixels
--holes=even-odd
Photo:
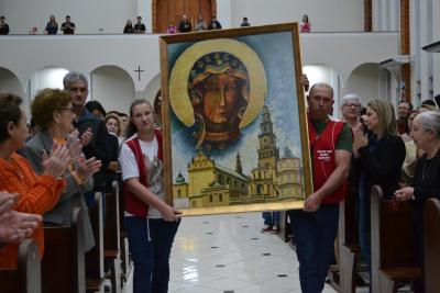
[[[44,226],[42,282],[44,293],[85,293],[85,248],[80,207],[75,207],[70,226]]]

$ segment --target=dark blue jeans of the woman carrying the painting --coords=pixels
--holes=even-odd
[[[133,293],[168,292],[169,253],[180,221],[135,216],[124,221],[134,262]]]

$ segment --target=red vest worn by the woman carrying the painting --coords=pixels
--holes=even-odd
[[[161,129],[154,129],[154,134],[157,138],[157,147],[158,154],[157,157],[162,161],[163,160],[163,148],[162,148],[162,132]],[[127,145],[131,148],[136,158],[138,168],[139,168],[139,181],[145,187],[148,188],[148,182],[146,182],[146,166],[144,161],[144,157],[142,155],[141,145],[139,144],[139,138],[135,137],[127,142]],[[148,205],[141,201],[135,194],[133,194],[127,184],[124,184],[124,198],[125,198],[125,211],[132,215],[146,217],[148,215]]]

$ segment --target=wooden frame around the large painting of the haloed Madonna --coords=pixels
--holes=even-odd
[[[172,147],[170,147],[170,121],[169,119],[169,92],[168,92],[168,50],[167,46],[175,43],[198,42],[213,38],[230,38],[248,35],[258,35],[266,33],[292,32],[293,48],[294,48],[294,66],[296,74],[297,102],[299,111],[299,126],[301,138],[301,156],[304,169],[304,183],[306,196],[314,192],[311,158],[308,139],[308,124],[306,116],[306,102],[304,95],[304,86],[300,82],[302,75],[301,55],[299,45],[299,29],[297,23],[282,23],[263,26],[249,26],[229,30],[217,30],[209,32],[194,32],[184,34],[163,35],[160,37],[160,54],[161,54],[161,84],[162,84],[162,117],[164,133],[164,181],[166,202],[173,205],[173,168],[172,168]],[[301,112],[302,111],[302,112]],[[302,113],[302,114],[301,114]],[[165,119],[166,117],[166,119]],[[308,166],[308,167],[307,167]],[[243,209],[245,206],[245,209]],[[244,212],[261,212],[261,211],[282,211],[290,209],[302,209],[304,201],[290,203],[264,203],[264,204],[246,204],[233,206],[217,206],[217,207],[191,207],[182,210],[183,216],[208,215],[208,214],[226,214],[226,213],[244,213]]]

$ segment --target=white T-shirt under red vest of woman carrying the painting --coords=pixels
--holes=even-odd
[[[128,140],[135,138],[138,135],[133,135]],[[151,142],[143,142],[139,139],[141,151],[144,157],[146,168],[146,182],[151,192],[157,195],[162,201],[165,201],[165,189],[164,189],[164,165],[158,159],[158,143],[156,136]],[[121,165],[122,180],[130,178],[139,178],[139,167],[134,153],[124,143],[122,145],[119,162]],[[133,216],[125,211],[125,216]],[[148,209],[150,218],[162,218],[160,211],[150,205]]]

